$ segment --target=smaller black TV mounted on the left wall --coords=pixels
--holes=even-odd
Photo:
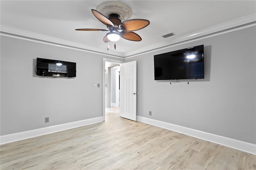
[[[48,77],[76,77],[76,63],[36,58],[36,75]]]

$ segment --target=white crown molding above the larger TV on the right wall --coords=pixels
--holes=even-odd
[[[168,48],[171,45],[177,44],[177,43],[182,43],[182,42],[186,42],[186,41],[190,41],[190,40],[198,40],[199,38],[202,39],[203,38],[207,38],[209,36],[216,36],[216,35],[220,35],[220,34],[225,34],[227,32],[232,32],[235,30],[240,30],[243,28],[247,28],[250,26],[255,26],[256,24],[253,24],[252,22],[256,21],[256,13],[255,14],[251,14],[242,18],[238,18],[236,20],[232,20],[232,21],[228,21],[222,24],[218,24],[216,26],[212,26],[203,30],[199,30],[196,32],[192,32],[190,34],[186,34],[184,36],[178,36],[178,37],[174,37],[172,36],[171,40],[168,42],[164,42],[164,43],[158,43],[158,44],[154,44],[151,46],[147,46],[143,49],[139,49],[136,51],[132,51],[129,53],[125,53],[124,56],[126,57],[134,57],[136,55],[140,55],[142,53],[148,53],[148,52],[152,52],[152,51],[158,51],[160,49],[164,49],[164,48]],[[252,23],[252,24],[249,24]],[[245,24],[249,24],[246,26],[243,26]],[[241,26],[241,27],[239,27]],[[239,28],[236,28],[239,27]],[[230,29],[230,30],[228,30]],[[195,40],[196,39],[196,40]]]

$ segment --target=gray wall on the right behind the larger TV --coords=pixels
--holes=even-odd
[[[256,144],[255,33],[254,26],[125,59],[137,60],[138,116]],[[205,79],[154,81],[154,55],[202,44]]]

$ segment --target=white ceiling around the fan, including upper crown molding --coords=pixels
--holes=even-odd
[[[89,51],[127,57],[256,21],[255,0],[120,0],[132,9],[130,19],[146,19],[150,25],[135,33],[142,41],[120,39],[103,42],[107,32],[75,31],[107,29],[91,12],[102,0],[1,0],[1,34],[62,43]],[[173,32],[175,35],[163,38]],[[196,34],[196,35],[193,35]]]

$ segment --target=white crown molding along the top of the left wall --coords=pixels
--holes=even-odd
[[[51,36],[46,36],[46,35],[42,35],[42,34],[38,34],[38,33],[34,33],[34,32],[29,32],[26,30],[20,30],[17,28],[9,27],[9,26],[1,25],[0,31],[1,31],[1,35],[3,35],[3,36],[20,38],[20,39],[24,39],[24,40],[52,44],[52,45],[57,45],[57,46],[64,46],[67,48],[78,49],[78,50],[86,51],[86,52],[90,52],[90,53],[98,53],[98,54],[107,55],[110,57],[118,57],[118,58],[124,57],[124,56],[122,56],[121,53],[118,53],[116,51],[114,51],[112,53],[111,53],[111,51],[108,51],[108,53],[106,53],[106,51],[103,51],[96,47],[88,46],[88,45],[81,44],[81,43],[71,42],[71,41],[67,41],[67,40],[62,40],[59,38],[54,38]]]

